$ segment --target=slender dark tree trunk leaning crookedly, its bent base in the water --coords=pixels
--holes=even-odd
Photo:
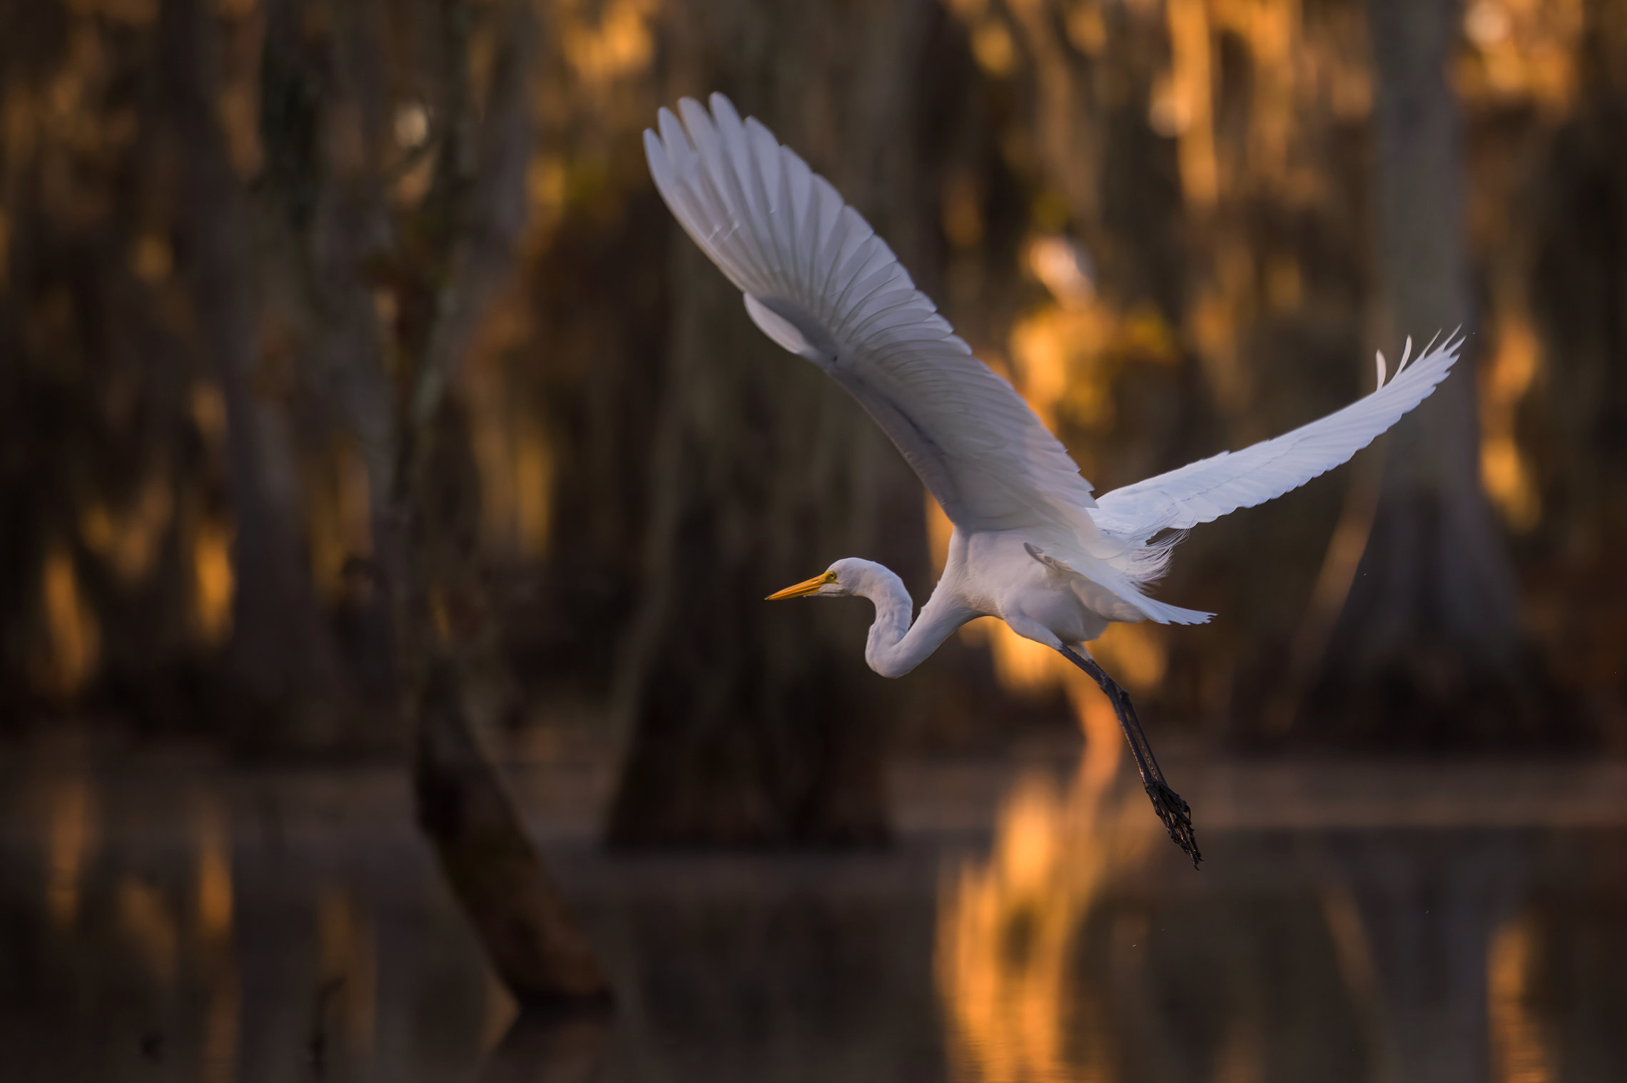
[[[327,257],[311,270],[321,283],[312,304],[325,338],[314,354],[368,446],[374,553],[394,613],[420,826],[521,1003],[599,1000],[608,990],[604,974],[478,740],[508,711],[511,681],[478,550],[480,476],[454,384],[526,226],[535,28],[519,0],[347,11],[334,41],[306,42],[330,50],[314,88],[325,78],[332,107],[345,93],[351,115],[371,115],[376,125],[390,115],[390,98],[373,42],[392,15],[410,20],[397,28],[403,37],[418,31],[431,50],[425,89],[433,177],[379,237],[369,237],[364,223],[390,218],[387,167],[369,171],[363,159],[351,176],[330,180],[324,244],[308,254],[312,263],[317,252]],[[470,54],[482,20],[491,63],[478,86]],[[270,26],[267,49],[298,52],[296,26]],[[285,70],[298,81],[301,67],[290,55]],[[394,325],[369,320],[374,291],[390,298]]]

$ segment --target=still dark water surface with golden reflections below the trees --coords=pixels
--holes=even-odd
[[[0,759],[0,1078],[1627,1080],[1620,764],[898,772],[888,852],[610,855],[514,782],[613,972],[516,1018],[389,769]],[[1442,774],[1445,772],[1445,774]]]

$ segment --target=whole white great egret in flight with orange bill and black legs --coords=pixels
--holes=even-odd
[[[844,558],[770,595],[859,595],[875,605],[864,660],[903,676],[957,628],[997,616],[1062,652],[1113,707],[1170,837],[1197,865],[1191,810],[1168,787],[1136,709],[1085,644],[1110,621],[1199,624],[1212,613],[1145,595],[1188,527],[1253,507],[1337,467],[1446,377],[1451,337],[1411,366],[1412,340],[1373,394],[1245,450],[1093,496],[1067,450],[1010,384],[971,356],[892,249],[823,177],[722,94],[678,102],[644,132],[649,171],[690,237],[745,294],[765,335],[820,366],[887,431],[953,524],[949,561],[911,623],[887,568]]]

